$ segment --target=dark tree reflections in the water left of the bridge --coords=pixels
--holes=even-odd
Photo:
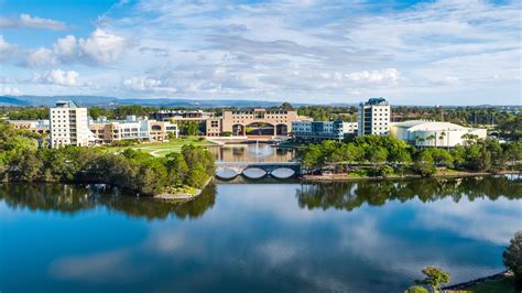
[[[148,197],[134,197],[105,185],[62,184],[0,184],[0,199],[11,208],[48,210],[75,214],[105,206],[132,217],[164,219],[170,215],[178,218],[197,218],[211,208],[216,199],[216,186],[209,184],[203,193],[189,202],[161,202]]]

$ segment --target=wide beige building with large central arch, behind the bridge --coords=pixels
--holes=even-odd
[[[295,110],[283,109],[239,109],[227,110],[221,117],[206,120],[206,135],[289,135],[292,122],[312,121],[312,118],[298,116]]]

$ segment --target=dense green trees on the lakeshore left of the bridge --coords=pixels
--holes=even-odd
[[[156,195],[202,188],[214,173],[214,156],[200,145],[185,144],[164,158],[132,149],[47,149],[31,132],[0,123],[0,181],[107,183]]]

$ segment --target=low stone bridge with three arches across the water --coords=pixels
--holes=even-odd
[[[257,180],[271,175],[284,180],[301,174],[297,162],[216,162],[216,177],[232,180],[238,175]]]

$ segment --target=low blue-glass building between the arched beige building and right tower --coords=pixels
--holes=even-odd
[[[357,123],[342,120],[292,122],[292,137],[298,141],[341,141],[349,133],[357,133]]]

